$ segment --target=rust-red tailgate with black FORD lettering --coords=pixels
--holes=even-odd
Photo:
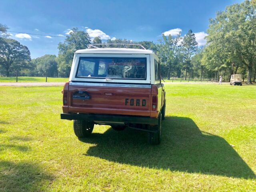
[[[68,112],[150,116],[151,85],[70,82]]]

